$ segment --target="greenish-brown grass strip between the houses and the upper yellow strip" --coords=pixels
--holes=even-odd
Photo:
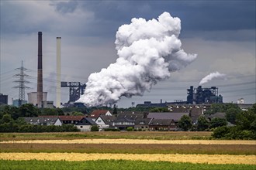
[[[126,139],[156,139],[156,140],[188,140],[211,139],[209,131],[98,131],[98,132],[62,132],[62,133],[2,133],[0,141],[12,140],[47,140],[74,138],[126,138]]]

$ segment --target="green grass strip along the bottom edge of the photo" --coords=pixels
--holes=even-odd
[[[171,163],[171,162],[142,162],[124,160],[100,160],[87,162],[65,162],[65,161],[5,161],[0,160],[0,169],[208,169],[208,170],[227,170],[227,169],[255,169],[255,165],[211,165],[211,164],[192,164],[192,163]]]

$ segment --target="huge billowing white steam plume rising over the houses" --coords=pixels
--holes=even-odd
[[[144,91],[196,58],[181,49],[181,21],[168,12],[158,19],[132,19],[116,32],[116,63],[88,77],[78,102],[92,107],[114,104],[120,97],[142,96]]]

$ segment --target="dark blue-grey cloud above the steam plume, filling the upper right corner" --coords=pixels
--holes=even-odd
[[[95,18],[115,22],[133,17],[152,19],[161,12],[182,19],[185,29],[237,30],[255,29],[255,1],[125,1],[80,2],[82,8],[95,12]]]

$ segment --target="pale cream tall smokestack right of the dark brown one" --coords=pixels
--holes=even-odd
[[[57,37],[57,89],[56,107],[61,107],[61,37]]]

